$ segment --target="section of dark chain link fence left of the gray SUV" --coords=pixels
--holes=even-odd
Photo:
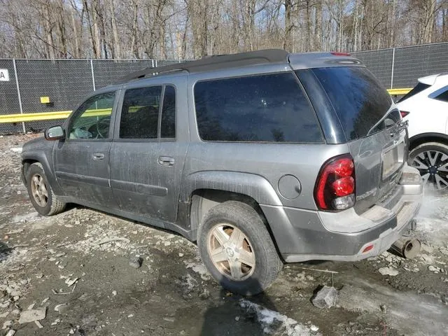
[[[179,60],[0,59],[0,70],[9,75],[8,81],[0,81],[0,115],[70,111],[85,95],[129,73],[174,63]],[[42,104],[41,97],[49,97],[50,103]],[[38,132],[62,121],[0,123],[0,134]]]

